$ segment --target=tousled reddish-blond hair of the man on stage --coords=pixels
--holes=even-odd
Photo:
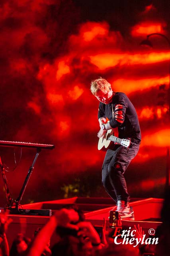
[[[107,82],[106,79],[100,77],[96,80],[92,80],[90,91],[93,95],[96,95],[96,93],[100,90],[104,92],[105,90],[108,92],[109,88],[111,88],[111,84]]]

